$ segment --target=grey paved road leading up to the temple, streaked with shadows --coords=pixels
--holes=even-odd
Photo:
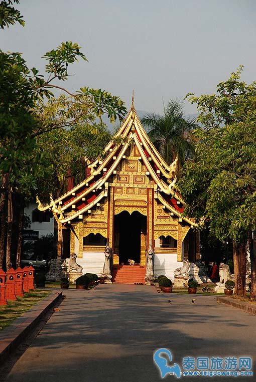
[[[169,348],[179,365],[186,356],[247,355],[256,361],[255,316],[217,304],[215,297],[197,295],[192,304],[189,295],[118,284],[64,294],[60,311],[16,363],[8,382],[156,382],[161,377],[153,352],[160,347]],[[177,378],[167,375],[165,380]]]

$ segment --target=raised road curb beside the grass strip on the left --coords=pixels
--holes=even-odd
[[[0,334],[0,365],[35,328],[40,319],[62,299],[62,292],[52,292],[44,300],[33,305]]]

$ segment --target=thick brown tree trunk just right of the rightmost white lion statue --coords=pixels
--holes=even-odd
[[[245,291],[245,275],[246,275],[246,256],[245,243],[236,245],[233,243],[233,261],[234,261],[234,276],[235,289],[234,294],[240,297],[246,295]]]

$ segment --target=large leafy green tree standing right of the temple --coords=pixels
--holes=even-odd
[[[250,243],[251,298],[256,299],[256,83],[240,80],[242,68],[217,86],[214,95],[190,98],[200,122],[194,160],[187,161],[178,183],[185,213],[207,222],[218,239],[233,240],[235,294],[245,295],[245,246]]]

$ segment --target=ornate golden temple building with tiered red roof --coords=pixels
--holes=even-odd
[[[163,160],[133,102],[102,159],[88,165],[87,178],[48,206],[38,201],[39,210],[50,209],[58,223],[58,256],[75,253],[83,273],[100,275],[108,239],[112,281],[122,282],[125,268],[123,282],[133,283],[144,279],[150,246],[156,277],[173,279],[184,259],[199,260],[199,233],[194,220],[183,216],[175,187],[177,161],[169,166]],[[128,259],[134,267],[127,265]]]

